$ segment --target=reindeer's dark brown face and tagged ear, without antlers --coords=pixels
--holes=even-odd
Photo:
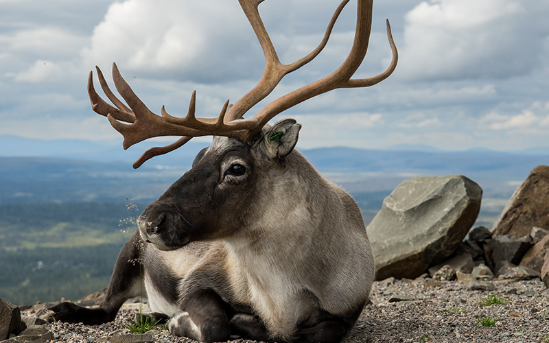
[[[291,182],[288,169],[299,168],[288,155],[300,129],[294,119],[284,119],[266,126],[251,144],[215,137],[193,167],[143,211],[138,220],[141,237],[169,250],[189,241],[247,235],[246,228],[260,220],[253,213],[290,201],[267,196],[273,192],[266,180]]]

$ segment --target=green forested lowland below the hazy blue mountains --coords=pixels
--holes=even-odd
[[[366,224],[389,193],[351,193]],[[484,206],[477,224],[491,225],[503,205]],[[0,204],[0,298],[32,305],[104,289],[145,206],[124,200]]]

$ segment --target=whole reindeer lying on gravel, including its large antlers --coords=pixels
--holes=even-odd
[[[152,113],[133,93],[113,64],[113,79],[126,107],[108,88],[99,68],[105,102],[93,87],[93,110],[124,136],[124,148],[160,136],[182,136],[145,152],[134,167],[170,152],[191,137],[212,135],[179,178],[137,220],[122,248],[99,307],[73,303],[51,307],[65,322],[100,324],[114,320],[128,298],[144,286],[150,308],[172,316],[173,335],[201,342],[241,337],[278,342],[340,342],[369,299],[374,261],[366,229],[351,196],[325,180],[294,150],[301,126],[284,119],[267,123],[284,110],[336,88],[372,86],[386,71],[351,79],[366,54],[371,31],[371,0],[358,0],[351,52],[330,75],[274,100],[252,119],[243,115],[272,92],[284,75],[303,67],[325,47],[343,0],[320,45],[292,64],[281,64],[259,16],[263,0],[239,0],[263,48],[263,77],[233,106],[226,102],[215,119],[195,117],[196,93],[183,118],[165,108]],[[125,122],[125,123],[123,123]],[[140,248],[141,247],[141,248]],[[139,263],[132,263],[139,261]],[[140,273],[142,270],[142,277]]]

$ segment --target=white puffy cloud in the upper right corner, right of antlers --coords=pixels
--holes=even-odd
[[[543,56],[548,14],[545,1],[423,1],[405,17],[401,75],[462,80],[529,73]]]

